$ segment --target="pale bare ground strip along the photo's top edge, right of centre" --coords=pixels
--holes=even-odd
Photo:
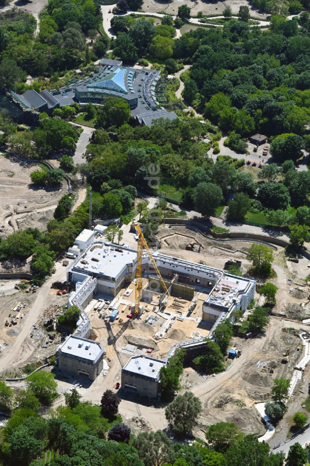
[[[171,2],[160,1],[160,0],[145,0],[142,5],[142,10],[147,13],[158,13],[159,11],[165,11],[169,14],[177,14],[178,7],[181,5],[187,5],[191,9],[191,16],[196,16],[198,11],[202,11],[204,15],[209,14],[222,14],[225,7],[229,5],[231,7],[232,13],[237,14],[239,7],[248,6],[250,14],[252,16],[261,17],[262,19],[266,17],[265,14],[259,14],[257,10],[253,9],[249,1],[246,0],[229,0],[226,2],[209,2],[198,0],[197,4],[194,5],[193,1],[190,0],[173,0]]]

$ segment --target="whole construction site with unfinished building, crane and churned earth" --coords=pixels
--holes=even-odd
[[[174,350],[183,345],[191,357],[185,360],[181,393],[193,391],[203,407],[195,435],[203,438],[208,425],[226,421],[235,422],[244,432],[263,437],[266,426],[256,405],[259,407],[270,399],[275,378],[293,380],[295,367],[306,356],[310,330],[308,285],[300,276],[290,273],[283,248],[274,247],[276,277],[270,281],[276,284],[278,292],[270,324],[259,338],[235,336],[231,347],[240,351],[240,357],[228,358],[226,371],[212,377],[196,370],[191,359],[202,350],[202,340],[212,336],[216,323],[229,318],[231,309],[227,301],[231,299],[233,308],[236,305],[244,311],[253,298],[256,305],[263,303],[257,293],[262,281],[255,283],[247,275],[251,264],[246,254],[252,241],[213,240],[188,227],[162,226],[158,233],[162,247],[156,252],[150,251],[155,265],[143,241],[140,242],[141,276],[137,277],[139,241],[135,241],[134,233],[129,233],[127,228],[124,237],[130,247],[105,243],[89,233],[91,242],[78,243],[80,251],[75,259],[69,260],[67,272],[62,262],[57,262],[54,277],[36,293],[18,292],[3,297],[6,311],[2,311],[0,343],[1,355],[6,357],[0,357],[2,374],[8,375],[9,368],[43,361],[52,354],[59,356],[60,347],[67,352],[67,361],[80,351],[72,346],[70,336],[55,333],[51,327],[68,301],[82,310],[73,334],[74,338],[81,339],[81,351],[90,344],[88,341],[99,343],[103,361],[100,349],[89,359],[94,364],[92,375],[85,366],[74,368],[72,373],[66,372],[63,365],[61,370],[56,368],[60,394],[78,386],[83,400],[100,403],[102,391],[117,390],[122,399],[120,412],[128,425],[138,430],[162,429],[167,421],[164,408],[155,401],[158,371]],[[225,270],[231,262],[238,264],[243,277]],[[298,271],[298,264],[294,267]],[[58,288],[50,288],[55,280],[71,283],[68,299],[67,295],[57,294]],[[45,300],[43,314],[39,302],[42,298]],[[19,302],[26,302],[26,307],[13,313]],[[219,305],[222,307],[218,315]],[[211,312],[206,312],[207,308]],[[22,319],[20,316],[16,319],[19,312],[24,314]],[[212,312],[213,321],[210,320]],[[250,312],[246,311],[246,315]],[[6,327],[9,314],[15,315],[12,318],[17,324]],[[14,336],[8,335],[8,331],[14,332]],[[20,354],[19,360],[17,354]],[[295,377],[296,383],[292,385],[288,413],[300,410],[308,393],[307,365],[297,375],[300,377]],[[283,422],[289,426],[289,420],[285,418]],[[282,430],[276,430],[270,442],[273,445],[285,435]]]

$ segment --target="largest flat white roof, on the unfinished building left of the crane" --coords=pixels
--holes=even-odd
[[[117,250],[116,250],[117,249]],[[132,249],[124,249],[101,241],[89,245],[75,262],[73,269],[88,271],[94,274],[117,278],[124,268],[136,262],[137,253]]]

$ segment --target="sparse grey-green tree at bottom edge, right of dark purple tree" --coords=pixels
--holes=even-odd
[[[173,442],[160,430],[139,433],[133,439],[132,445],[145,466],[161,466],[175,460]]]

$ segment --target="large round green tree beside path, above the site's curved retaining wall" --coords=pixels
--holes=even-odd
[[[223,195],[219,186],[213,183],[199,183],[194,189],[194,204],[198,212],[208,219],[215,215],[216,208],[221,205]]]

